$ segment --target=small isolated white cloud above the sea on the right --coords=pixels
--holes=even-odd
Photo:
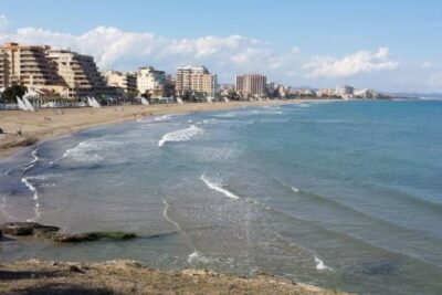
[[[349,77],[360,73],[394,70],[399,62],[391,60],[388,48],[378,52],[359,51],[344,59],[315,56],[303,67],[311,71],[311,77]]]

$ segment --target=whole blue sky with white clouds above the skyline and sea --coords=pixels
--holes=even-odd
[[[206,65],[219,83],[442,92],[439,0],[0,0],[0,42],[93,55],[99,70]]]

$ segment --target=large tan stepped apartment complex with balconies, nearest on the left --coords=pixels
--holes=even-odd
[[[0,46],[0,87],[21,84],[62,97],[110,95],[94,59],[69,50],[6,43]]]

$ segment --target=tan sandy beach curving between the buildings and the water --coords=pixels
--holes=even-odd
[[[293,99],[229,103],[187,103],[103,106],[102,108],[45,108],[38,112],[0,110],[0,159],[21,148],[97,126],[112,126],[144,117],[198,112],[215,112],[243,106],[271,106],[339,99]],[[22,135],[17,130],[21,128]]]

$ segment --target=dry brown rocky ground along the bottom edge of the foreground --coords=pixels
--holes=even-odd
[[[345,294],[269,275],[161,272],[134,261],[0,264],[0,294]]]

